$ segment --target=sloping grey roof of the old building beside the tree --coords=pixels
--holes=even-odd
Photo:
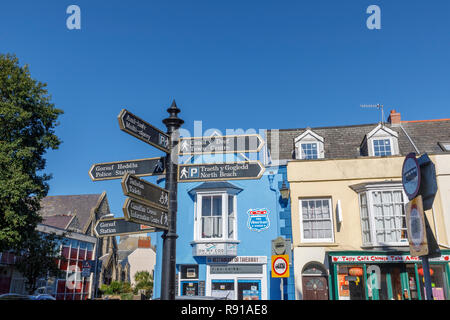
[[[91,212],[98,206],[102,194],[47,196],[41,200],[40,215],[43,224],[67,229],[75,225],[84,230]]]

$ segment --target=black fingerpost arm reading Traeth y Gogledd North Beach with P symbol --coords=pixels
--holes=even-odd
[[[184,164],[178,166],[178,182],[259,179],[264,171],[259,161]]]

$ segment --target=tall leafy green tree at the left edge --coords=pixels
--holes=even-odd
[[[43,155],[61,143],[54,128],[63,113],[46,86],[15,55],[0,54],[0,252],[37,239],[37,212],[51,178],[42,172]]]

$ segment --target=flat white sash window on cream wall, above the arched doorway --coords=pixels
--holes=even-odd
[[[300,199],[299,201],[302,241],[334,242],[331,199]]]

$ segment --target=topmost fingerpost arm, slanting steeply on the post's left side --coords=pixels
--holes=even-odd
[[[136,138],[158,148],[159,150],[166,153],[170,152],[170,137],[166,133],[155,128],[126,109],[122,109],[117,118],[119,119],[120,130],[135,136]]]

